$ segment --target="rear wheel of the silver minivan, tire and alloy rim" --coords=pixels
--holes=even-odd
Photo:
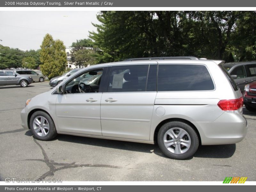
[[[174,135],[172,136],[174,137],[171,137],[170,134],[167,134],[167,131],[173,131],[172,133],[174,133]],[[182,136],[182,132],[185,133],[184,136]],[[182,138],[178,137],[179,133],[181,134]],[[176,138],[176,136],[179,139]],[[164,124],[158,132],[157,142],[162,152],[172,159],[187,159],[188,157],[193,156],[196,153],[199,145],[198,136],[195,130],[188,124],[179,121],[170,121]],[[190,144],[189,147],[188,144]],[[165,145],[170,146],[167,149]],[[177,152],[175,152],[176,149]]]

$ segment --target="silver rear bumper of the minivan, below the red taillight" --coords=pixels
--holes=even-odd
[[[238,143],[247,133],[247,121],[241,114],[224,112],[214,122],[192,122],[198,128],[202,145]]]

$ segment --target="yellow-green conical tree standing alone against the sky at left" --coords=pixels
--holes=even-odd
[[[40,65],[44,76],[52,78],[61,75],[66,68],[65,46],[59,39],[54,41],[50,34],[44,36],[40,51]]]

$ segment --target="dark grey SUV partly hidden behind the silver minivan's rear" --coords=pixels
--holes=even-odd
[[[244,86],[256,80],[256,61],[225,63],[223,67],[233,77],[241,92]]]

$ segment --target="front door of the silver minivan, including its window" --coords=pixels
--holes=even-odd
[[[103,68],[91,69],[67,81],[65,94],[56,100],[56,116],[60,132],[100,135],[100,87]],[[94,81],[88,83],[93,78]]]

